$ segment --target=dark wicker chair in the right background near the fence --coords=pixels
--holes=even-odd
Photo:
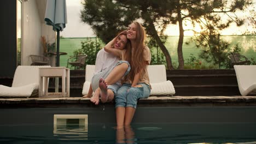
[[[249,65],[251,62],[247,57],[240,55],[238,53],[231,52],[231,55],[228,56],[231,60],[232,65]]]

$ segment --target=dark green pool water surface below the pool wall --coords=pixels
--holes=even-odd
[[[0,125],[0,143],[256,143],[256,123]]]

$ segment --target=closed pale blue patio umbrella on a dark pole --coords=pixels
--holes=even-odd
[[[56,66],[60,66],[60,31],[66,27],[66,0],[47,0],[44,21],[57,32]]]

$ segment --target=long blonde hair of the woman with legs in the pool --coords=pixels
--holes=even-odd
[[[126,80],[133,81],[135,74],[141,72],[144,67],[146,67],[146,63],[144,61],[144,41],[146,40],[146,32],[142,25],[138,22],[133,22],[136,25],[136,46],[133,47],[133,50],[127,49],[127,61],[131,65],[130,73],[126,76]],[[145,71],[140,73],[140,77],[143,77]]]

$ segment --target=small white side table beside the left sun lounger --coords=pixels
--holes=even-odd
[[[61,77],[62,93],[48,93],[50,77]],[[43,93],[44,79],[44,93]],[[70,70],[66,67],[39,68],[39,97],[69,97]],[[67,84],[66,84],[67,83]]]

